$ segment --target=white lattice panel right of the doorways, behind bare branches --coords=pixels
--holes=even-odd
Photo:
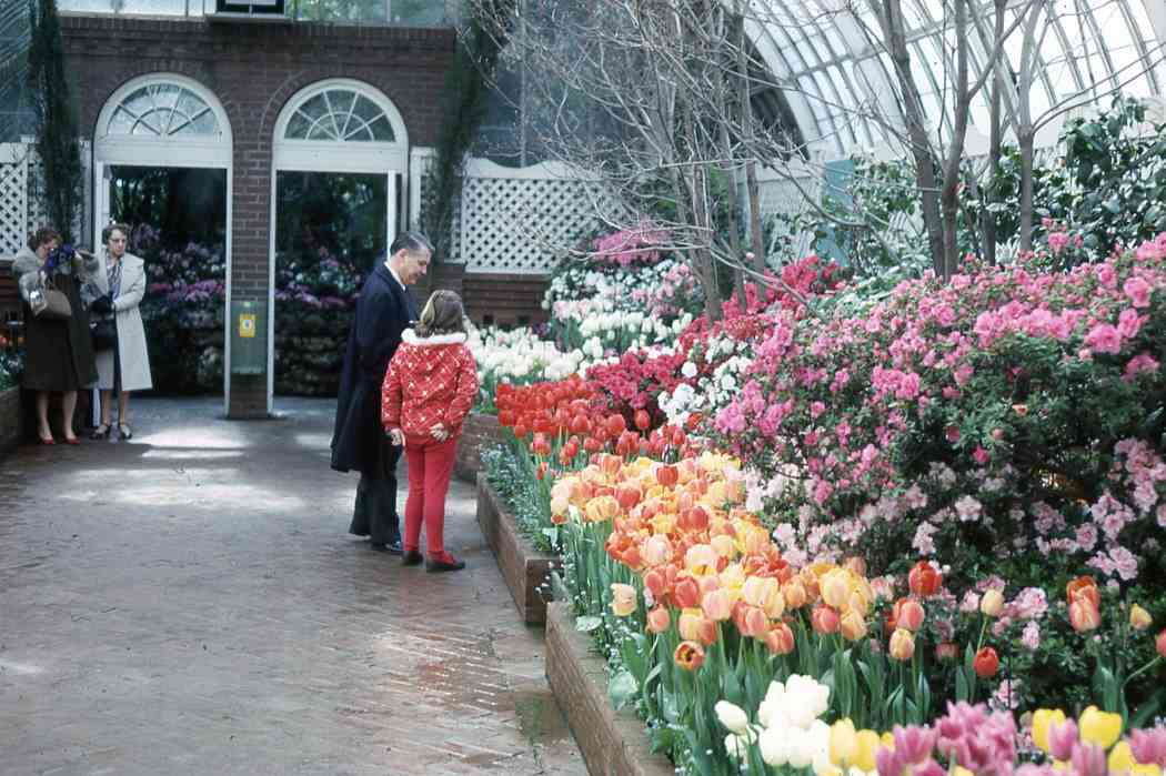
[[[468,271],[541,274],[596,225],[589,186],[550,165],[476,160],[462,186],[457,258]]]

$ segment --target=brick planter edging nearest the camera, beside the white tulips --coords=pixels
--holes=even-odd
[[[611,707],[607,664],[591,652],[590,637],[575,629],[570,607],[561,601],[547,607],[546,666],[547,682],[589,773],[675,776],[672,762],[652,752],[644,720],[631,707]]]

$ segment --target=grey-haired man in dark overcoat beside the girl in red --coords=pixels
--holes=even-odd
[[[431,256],[433,245],[423,234],[405,232],[365,281],[344,352],[332,431],[332,468],[360,472],[349,532],[368,536],[373,550],[396,555],[401,529],[395,472],[401,447],[391,443],[380,425],[380,387],[401,332],[417,319],[407,287],[426,274]]]

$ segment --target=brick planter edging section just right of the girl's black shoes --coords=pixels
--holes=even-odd
[[[547,620],[547,600],[550,598],[550,572],[560,560],[539,552],[524,537],[484,474],[478,474],[478,525],[486,543],[494,551],[498,569],[503,572],[514,605],[527,625],[542,625]],[[540,590],[541,587],[541,590]]]

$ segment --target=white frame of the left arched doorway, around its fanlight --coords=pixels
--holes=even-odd
[[[220,134],[217,139],[171,135],[168,137],[142,137],[138,135],[110,135],[107,128],[113,112],[131,93],[148,84],[176,84],[196,93],[215,113]],[[225,253],[226,299],[224,302],[224,326],[231,319],[231,242],[232,212],[234,204],[234,158],[231,122],[222,103],[209,89],[187,76],[171,72],[155,72],[133,78],[113,92],[101,107],[93,137],[93,242],[96,248],[101,239],[101,230],[110,221],[110,182],[106,175],[111,167],[183,167],[219,169],[226,171],[226,237]],[[229,333],[229,332],[227,332]],[[223,414],[231,407],[231,338],[223,343]]]

